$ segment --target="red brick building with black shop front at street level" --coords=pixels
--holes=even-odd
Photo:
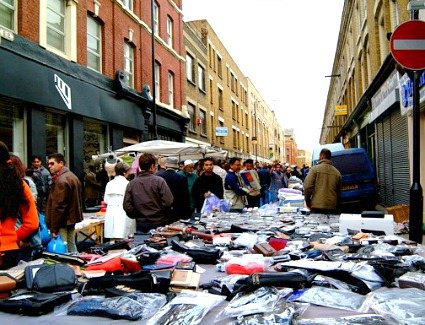
[[[61,152],[83,177],[94,154],[183,141],[182,4],[154,3],[153,47],[150,0],[0,1],[0,138],[23,161]]]

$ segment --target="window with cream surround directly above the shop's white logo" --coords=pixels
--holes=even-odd
[[[47,2],[47,44],[65,52],[65,1]]]

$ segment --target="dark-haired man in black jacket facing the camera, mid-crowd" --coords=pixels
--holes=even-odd
[[[195,201],[197,212],[201,212],[205,198],[210,196],[211,193],[217,196],[219,199],[222,199],[224,192],[223,181],[221,177],[213,172],[213,159],[205,158],[203,162],[204,172],[195,180],[192,187],[192,197]]]

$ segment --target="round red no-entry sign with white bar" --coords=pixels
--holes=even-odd
[[[409,20],[398,26],[390,39],[391,54],[403,67],[425,69],[425,22]]]

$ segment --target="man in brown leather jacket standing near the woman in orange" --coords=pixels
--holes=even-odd
[[[65,167],[61,153],[49,156],[53,184],[46,204],[46,225],[53,237],[60,235],[67,242],[68,252],[77,252],[75,224],[83,220],[81,182]]]

